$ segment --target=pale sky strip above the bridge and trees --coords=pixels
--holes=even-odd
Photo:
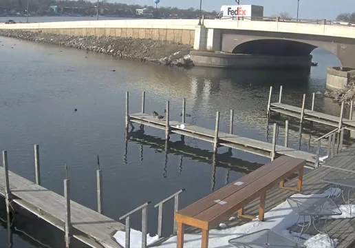
[[[94,0],[91,0],[94,1]],[[153,6],[153,0],[108,0],[111,3],[120,2]],[[233,0],[202,0],[202,10],[216,10],[219,12],[222,5],[235,5]],[[297,16],[297,0],[240,0],[240,4],[253,4],[263,6],[264,16],[288,12],[292,17]],[[199,0],[160,0],[159,6],[177,8],[200,8]],[[299,0],[300,19],[327,19],[335,20],[336,16],[344,12],[355,12],[355,0]]]

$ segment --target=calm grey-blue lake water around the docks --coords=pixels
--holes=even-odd
[[[64,164],[68,163],[72,200],[96,209],[99,155],[105,214],[118,220],[151,201],[151,234],[157,227],[155,203],[184,188],[186,192],[180,196],[180,207],[184,207],[269,160],[237,150],[230,157],[222,147],[213,168],[211,144],[185,138],[182,145],[180,137],[172,135],[166,153],[164,132],[149,127],[144,134],[133,133],[126,143],[126,91],[130,92],[131,113],[140,111],[140,97],[146,91],[147,112],[162,114],[169,100],[171,119],[179,120],[182,98],[186,98],[186,112],[191,114],[187,122],[213,129],[215,113],[220,111],[220,130],[227,131],[229,112],[234,109],[235,134],[271,142],[275,121],[266,125],[270,85],[277,89],[274,101],[283,85],[285,103],[300,106],[306,93],[306,107],[310,107],[312,92],[325,90],[325,68],[341,65],[333,54],[315,50],[313,60],[319,66],[310,71],[184,70],[16,39],[0,37],[0,41],[0,148],[8,151],[10,170],[34,180],[33,145],[39,144],[42,185],[63,194]],[[338,105],[322,97],[316,97],[315,106],[329,114],[340,112]],[[276,121],[282,125],[285,119]],[[299,123],[291,120],[290,146],[315,152],[310,138],[327,131],[321,125],[312,130],[305,126],[299,142]],[[280,127],[280,144],[282,136]],[[0,200],[3,219],[6,215]],[[165,236],[171,233],[172,221],[173,204],[168,203]],[[0,223],[0,247],[9,247],[6,223]],[[133,217],[132,227],[140,230],[140,214]],[[12,231],[12,247],[63,247],[61,231],[26,212],[15,217]]]

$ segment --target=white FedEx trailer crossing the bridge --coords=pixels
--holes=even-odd
[[[250,17],[250,19],[259,19],[263,17],[263,6],[222,6],[221,15],[222,17]]]

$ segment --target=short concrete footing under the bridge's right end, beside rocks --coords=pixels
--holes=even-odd
[[[354,68],[327,68],[327,90],[344,90],[355,76]]]

